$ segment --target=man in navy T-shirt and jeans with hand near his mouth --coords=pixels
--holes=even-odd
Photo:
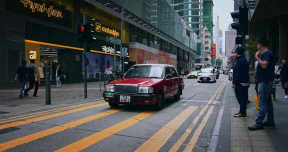
[[[268,49],[268,43],[268,39],[265,37],[257,39],[258,51],[255,53],[255,58],[258,61],[256,79],[258,81],[258,102],[260,109],[256,123],[249,126],[249,130],[263,129],[263,126],[275,126],[271,98],[274,79],[274,56],[272,51]],[[266,114],[267,118],[263,122]]]

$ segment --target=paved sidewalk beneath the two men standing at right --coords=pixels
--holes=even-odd
[[[249,87],[249,100],[247,104],[247,117],[234,118],[238,112],[234,89],[231,81],[227,85],[226,102],[221,122],[219,139],[216,151],[287,151],[288,144],[288,100],[284,99],[284,90],[276,87],[276,100],[274,105],[275,127],[264,127],[263,130],[249,131],[248,126],[255,123],[258,111],[255,109],[253,94],[254,84]]]

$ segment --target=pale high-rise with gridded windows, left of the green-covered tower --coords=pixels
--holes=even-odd
[[[196,52],[200,56],[197,63],[204,63],[203,36],[203,0],[167,0],[187,25],[197,34]]]

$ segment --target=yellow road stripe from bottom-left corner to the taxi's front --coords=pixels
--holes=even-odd
[[[78,120],[75,120],[72,122],[68,122],[68,123],[65,123],[65,124],[60,125],[60,126],[55,126],[55,127],[52,127],[52,128],[40,131],[40,132],[32,133],[32,134],[29,134],[29,135],[26,135],[26,136],[23,136],[20,138],[16,138],[14,140],[0,143],[0,151],[4,151],[7,149],[16,147],[18,145],[21,145],[21,144],[31,142],[33,140],[36,140],[36,139],[39,139],[39,138],[63,131],[63,130],[66,130],[68,128],[72,128],[72,127],[87,123],[89,121],[113,114],[113,113],[118,112],[118,111],[120,111],[120,110],[117,110],[117,109],[108,110],[108,111],[101,112],[101,113],[98,113],[95,115],[91,115],[91,116],[88,116],[85,118],[81,118],[81,119],[78,119]]]

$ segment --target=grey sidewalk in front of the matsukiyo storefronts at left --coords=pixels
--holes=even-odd
[[[103,90],[104,86],[101,82],[101,91]],[[51,85],[51,105],[45,105],[45,86],[39,86],[37,98],[32,98],[33,91],[31,89],[28,92],[29,96],[19,98],[18,88],[0,89],[0,116],[102,98],[99,82],[87,83],[87,98],[84,98],[83,83],[68,83],[61,87]]]

